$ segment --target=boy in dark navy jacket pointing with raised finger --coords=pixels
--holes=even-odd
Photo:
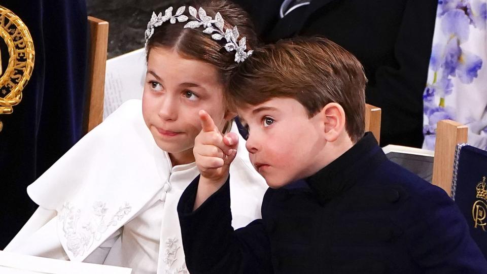
[[[262,219],[234,231],[236,136],[201,111],[201,176],[178,205],[191,273],[487,272],[455,203],[364,135],[365,83],[359,61],[322,38],[268,45],[241,64],[229,92],[271,188]]]

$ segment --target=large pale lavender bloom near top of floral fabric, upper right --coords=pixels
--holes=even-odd
[[[445,13],[441,30],[447,37],[457,37],[460,43],[468,40],[470,18],[463,10],[455,9]]]

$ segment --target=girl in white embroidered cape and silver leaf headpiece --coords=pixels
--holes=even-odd
[[[225,89],[255,43],[248,16],[226,0],[153,14],[142,102],[127,101],[27,188],[39,209],[5,250],[187,273],[177,204],[199,174],[198,112],[237,132]],[[266,190],[241,138],[239,147],[230,171],[235,228],[260,218]]]

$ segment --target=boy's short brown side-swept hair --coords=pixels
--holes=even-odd
[[[309,117],[336,102],[356,143],[364,134],[366,82],[362,65],[350,52],[326,38],[298,37],[256,49],[237,68],[228,92],[237,107],[294,98]]]

